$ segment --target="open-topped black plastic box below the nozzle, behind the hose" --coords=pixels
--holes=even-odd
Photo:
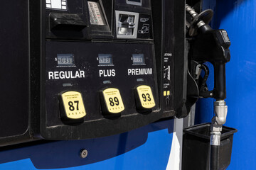
[[[223,126],[218,154],[219,169],[227,169],[231,161],[233,135],[238,130]],[[183,130],[182,169],[208,170],[210,160],[210,123]]]

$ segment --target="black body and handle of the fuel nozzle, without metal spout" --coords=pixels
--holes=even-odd
[[[198,34],[192,43],[192,60],[210,62],[214,67],[213,97],[216,100],[226,98],[225,64],[230,61],[230,40],[225,30],[210,30]],[[204,97],[204,96],[203,96]]]

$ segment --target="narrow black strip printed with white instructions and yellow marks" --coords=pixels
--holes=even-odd
[[[174,53],[174,1],[162,1],[162,49],[161,57],[164,60],[163,70],[164,79],[163,86],[164,101],[163,111],[169,112],[174,110],[174,59],[178,56]],[[173,19],[170,19],[173,18]],[[179,35],[177,35],[178,38]],[[178,92],[178,91],[176,91]],[[166,94],[165,94],[166,93]]]

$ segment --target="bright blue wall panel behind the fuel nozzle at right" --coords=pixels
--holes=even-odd
[[[228,169],[256,169],[253,131],[256,121],[256,1],[216,2],[215,28],[227,30],[232,43],[231,61],[226,68],[228,118],[225,125],[237,128],[238,132],[234,135]],[[207,109],[212,108],[202,109],[201,114]]]

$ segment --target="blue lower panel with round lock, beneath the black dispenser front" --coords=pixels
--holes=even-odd
[[[174,120],[166,120],[110,137],[6,150],[0,169],[166,169],[173,131]],[[85,159],[79,157],[83,148]]]

